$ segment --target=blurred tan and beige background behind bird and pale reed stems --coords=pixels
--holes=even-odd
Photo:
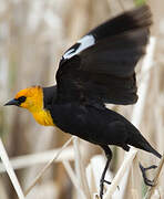
[[[14,94],[31,85],[54,84],[62,53],[84,33],[142,0],[0,0],[0,136],[9,157],[18,157],[61,147],[70,137],[52,127],[39,126],[24,109],[3,107]],[[156,38],[151,81],[140,129],[161,153],[164,151],[164,2],[148,0]],[[139,82],[142,81],[139,70]],[[113,106],[131,119],[133,106]],[[81,142],[83,163],[86,166],[99,147]],[[122,149],[112,147],[114,175],[123,161]],[[140,151],[144,165],[156,163],[152,155]],[[72,161],[73,163],[73,159]],[[43,165],[17,169],[18,179],[25,190]],[[164,178],[163,178],[164,180]],[[163,184],[164,186],[164,184]],[[164,192],[164,187],[163,190]],[[126,191],[127,193],[127,191]],[[126,195],[124,198],[132,198]],[[61,163],[53,164],[28,199],[78,198]],[[6,172],[0,174],[0,198],[17,199]]]

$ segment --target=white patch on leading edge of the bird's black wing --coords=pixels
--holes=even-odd
[[[75,54],[79,54],[84,49],[88,49],[89,46],[94,45],[95,39],[93,35],[89,34],[89,35],[83,36],[76,43],[79,44],[78,49],[73,48],[74,46],[73,45],[69,51],[66,51],[65,54],[63,55],[64,60],[70,59],[74,56]]]

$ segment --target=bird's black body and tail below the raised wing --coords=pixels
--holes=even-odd
[[[116,145],[125,150],[131,145],[161,157],[132,123],[111,109],[68,103],[53,105],[50,113],[59,128],[90,143]]]

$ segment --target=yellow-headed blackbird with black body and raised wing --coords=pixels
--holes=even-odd
[[[109,145],[127,151],[130,146],[134,146],[161,158],[139,129],[104,105],[136,103],[134,67],[145,53],[151,23],[147,6],[106,21],[64,53],[55,76],[57,85],[22,90],[6,104],[29,109],[41,125],[58,126],[101,146],[107,158],[101,177],[101,198],[112,159]],[[140,167],[145,184],[152,186],[153,181],[146,178],[145,171],[155,166],[144,168],[140,164]]]

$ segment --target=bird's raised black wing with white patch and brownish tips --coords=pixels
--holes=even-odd
[[[151,11],[124,12],[95,28],[62,56],[57,72],[58,102],[133,104],[135,65],[145,53]]]

